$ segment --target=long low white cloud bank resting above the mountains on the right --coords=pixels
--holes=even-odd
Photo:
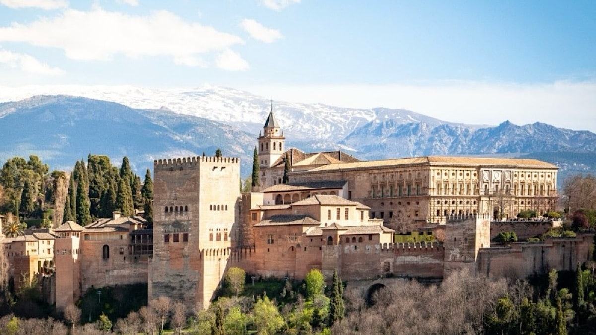
[[[402,108],[438,119],[497,125],[533,122],[596,132],[596,80],[519,84],[443,81],[387,85],[240,87],[277,100],[353,108]]]

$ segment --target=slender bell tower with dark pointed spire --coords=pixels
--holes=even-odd
[[[271,111],[269,117],[263,126],[263,134],[259,132],[258,152],[259,168],[271,168],[285,150],[285,137],[280,131],[280,124],[273,114],[273,101],[271,101]]]

